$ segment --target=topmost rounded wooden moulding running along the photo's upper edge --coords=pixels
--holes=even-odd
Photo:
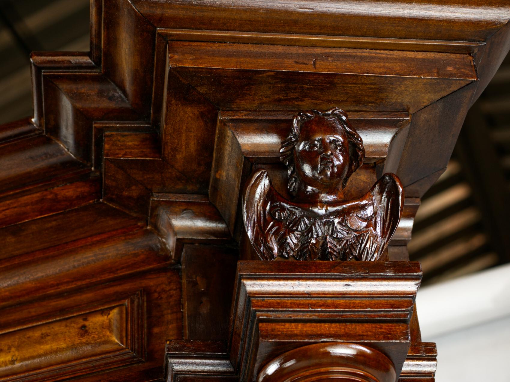
[[[209,29],[223,30],[224,25],[228,25],[233,31],[298,34],[306,31],[317,35],[432,40],[483,41],[510,18],[506,4],[491,2],[488,5],[481,0],[471,0],[464,5],[409,0],[389,2],[384,8],[370,1],[335,1],[327,6],[310,5],[305,0],[278,0],[270,4],[210,0],[200,5],[136,0],[133,4],[160,28],[203,29],[203,25],[208,25]],[[254,24],[253,19],[260,17],[261,12],[265,22]],[[360,25],[364,26],[362,30]],[[440,35],[437,35],[438,30]]]

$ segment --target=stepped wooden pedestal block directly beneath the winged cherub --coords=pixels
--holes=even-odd
[[[417,262],[241,261],[226,349],[170,341],[167,380],[222,375],[251,381],[282,353],[325,341],[381,352],[399,375],[411,346],[420,280]],[[381,378],[375,380],[387,380]]]

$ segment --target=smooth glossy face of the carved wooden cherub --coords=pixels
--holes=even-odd
[[[323,188],[341,182],[349,165],[349,146],[338,120],[316,116],[304,122],[294,161],[297,176],[307,185]]]

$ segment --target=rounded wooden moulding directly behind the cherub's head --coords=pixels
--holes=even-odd
[[[252,166],[263,166],[272,170],[273,168],[268,168],[266,164],[278,164],[277,171],[282,177],[286,177],[285,167],[279,159],[279,149],[289,134],[294,115],[295,112],[221,112],[209,198],[236,237],[239,235],[239,232],[235,231],[236,224],[239,229],[242,221],[241,190]],[[396,135],[410,122],[406,113],[386,112],[351,113],[349,120],[363,139],[367,163],[385,159],[392,149]],[[399,153],[394,152],[393,155],[398,156]],[[348,184],[345,190],[346,195],[360,197],[364,193],[356,194],[354,189],[362,185],[368,189],[372,185],[368,183],[376,180],[373,168],[369,166],[363,166],[359,172],[363,173],[363,176],[361,179],[352,177],[349,182],[352,184]],[[374,175],[371,176],[370,173]],[[366,178],[370,180],[367,182]],[[278,191],[286,192],[286,183],[278,188]]]

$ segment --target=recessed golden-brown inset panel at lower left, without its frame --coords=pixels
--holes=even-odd
[[[141,361],[142,295],[0,334],[0,381],[56,380]]]

